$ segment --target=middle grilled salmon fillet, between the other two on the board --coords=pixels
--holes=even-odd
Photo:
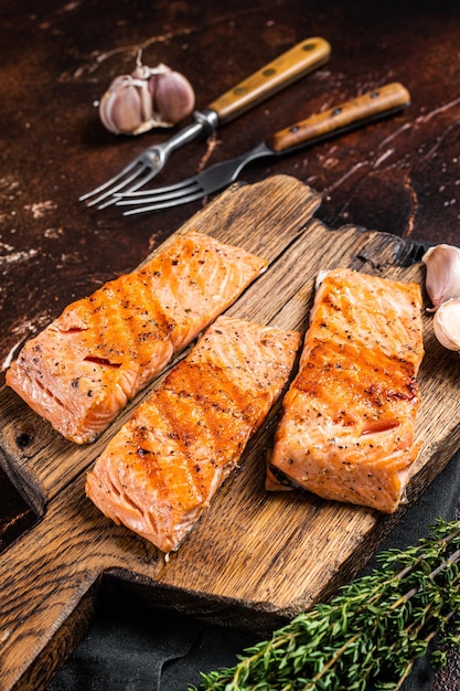
[[[280,397],[300,333],[220,317],[87,475],[116,523],[176,550]]]

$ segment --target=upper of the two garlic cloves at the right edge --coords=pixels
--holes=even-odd
[[[425,285],[434,311],[442,302],[460,297],[460,248],[453,245],[436,245],[421,257],[427,266]]]

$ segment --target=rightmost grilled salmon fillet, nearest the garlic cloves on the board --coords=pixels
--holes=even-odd
[[[417,284],[325,273],[282,402],[266,488],[287,482],[324,499],[396,511],[419,450],[414,425],[422,357]]]

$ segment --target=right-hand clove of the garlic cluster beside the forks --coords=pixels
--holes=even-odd
[[[189,79],[180,72],[154,75],[153,108],[162,120],[175,125],[193,111],[195,93]]]

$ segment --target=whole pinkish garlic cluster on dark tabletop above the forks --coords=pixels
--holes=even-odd
[[[172,127],[194,106],[193,87],[183,74],[163,64],[142,65],[139,53],[132,74],[116,77],[101,97],[99,117],[115,135],[140,135]]]

